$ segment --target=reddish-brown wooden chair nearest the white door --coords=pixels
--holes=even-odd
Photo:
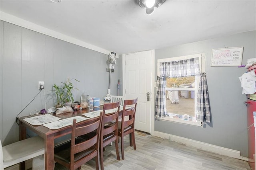
[[[130,142],[130,146],[136,149],[135,144],[135,135],[134,135],[134,121],[135,121],[135,113],[137,107],[138,98],[134,100],[124,100],[124,108],[122,114],[122,121],[118,122],[118,137],[121,137],[121,152],[122,159],[124,159],[124,136],[128,134],[132,134],[132,142]],[[132,106],[131,109],[126,109],[126,106]],[[126,119],[125,117],[129,117]]]

